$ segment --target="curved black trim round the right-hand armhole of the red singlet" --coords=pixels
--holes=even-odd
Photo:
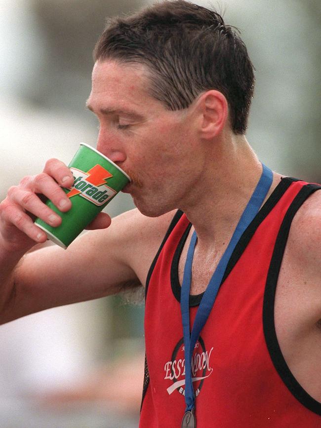
[[[263,303],[263,330],[267,348],[269,350],[273,365],[279,373],[281,380],[291,392],[291,394],[306,408],[321,416],[321,403],[315,400],[308,392],[301,387],[292,375],[281,352],[274,322],[274,305],[278,277],[285,245],[290,231],[294,215],[303,202],[321,186],[308,184],[299,191],[289,206],[281,224],[280,231],[274,247],[269,272],[266,280],[264,303]],[[321,426],[321,424],[320,424]]]

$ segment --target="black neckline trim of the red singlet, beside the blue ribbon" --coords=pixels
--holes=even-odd
[[[281,179],[281,182],[274,189],[274,191],[269,196],[269,198],[267,199],[265,204],[262,206],[260,211],[256,214],[252,222],[248,225],[246,230],[243,232],[227,264],[221,284],[225,281],[225,279],[230,274],[234,266],[237,264],[247,244],[249,243],[250,239],[254,235],[256,229],[259,227],[259,225],[262,223],[265,217],[271,212],[271,210],[275,207],[277,202],[281,199],[281,197],[284,195],[286,190],[291,186],[291,183],[293,181],[299,181],[299,180],[296,178],[289,178],[289,177]],[[178,302],[181,301],[181,285],[178,279],[178,262],[190,229],[191,229],[191,224],[189,224],[185,233],[181,237],[179,244],[177,245],[177,248],[174,253],[171,269],[170,269],[171,288],[172,288],[173,295]],[[190,295],[190,307],[200,305],[203,294],[204,293],[197,294],[197,295]]]

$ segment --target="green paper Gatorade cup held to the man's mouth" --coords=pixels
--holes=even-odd
[[[62,223],[57,228],[40,218],[35,223],[47,237],[62,248],[67,248],[105,206],[130,182],[128,175],[112,160],[87,144],[80,148],[68,165],[75,182],[63,189],[72,202],[68,212],[61,212],[50,200],[47,206],[55,211]]]

